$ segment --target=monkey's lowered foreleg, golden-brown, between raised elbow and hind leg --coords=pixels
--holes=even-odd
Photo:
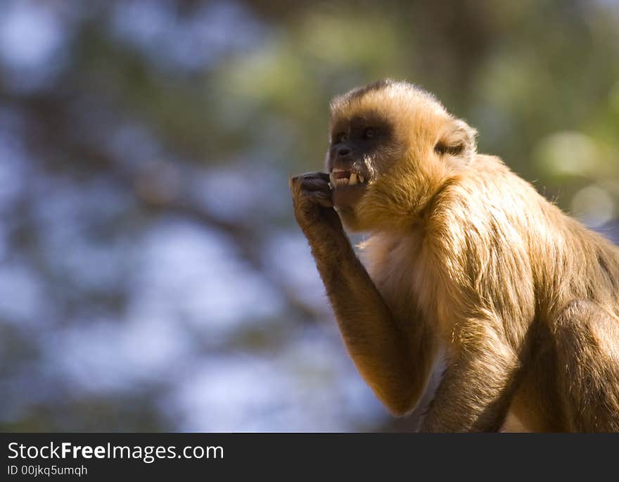
[[[517,368],[516,354],[490,331],[461,348],[447,364],[421,431],[498,431],[509,410]]]

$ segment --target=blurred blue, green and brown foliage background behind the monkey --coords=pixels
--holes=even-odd
[[[615,236],[616,0],[0,1],[0,429],[409,429],[287,184],[381,77]]]

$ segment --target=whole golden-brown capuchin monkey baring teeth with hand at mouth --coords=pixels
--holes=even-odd
[[[619,249],[412,84],[337,97],[330,133],[326,172],[290,179],[295,217],[385,407],[430,398],[428,432],[619,431]],[[363,264],[343,226],[369,234]]]

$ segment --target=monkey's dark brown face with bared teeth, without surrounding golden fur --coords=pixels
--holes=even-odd
[[[326,170],[337,208],[352,208],[362,198],[383,170],[392,144],[392,125],[374,113],[333,122]]]

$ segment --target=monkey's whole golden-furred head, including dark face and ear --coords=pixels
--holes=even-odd
[[[379,80],[331,101],[326,170],[352,230],[406,228],[476,156],[476,131],[428,92]]]

